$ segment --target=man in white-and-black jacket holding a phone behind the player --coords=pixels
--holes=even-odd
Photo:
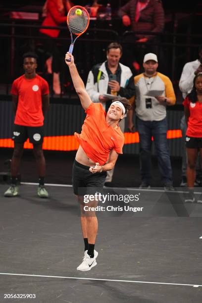
[[[122,47],[119,43],[110,43],[106,50],[106,61],[93,66],[89,72],[86,91],[93,102],[101,102],[105,111],[111,101],[105,94],[121,96],[126,99],[135,94],[134,80],[129,67],[119,63],[122,55]],[[125,118],[119,123],[121,131],[124,132]],[[113,169],[107,171],[105,185],[110,185],[113,177]]]

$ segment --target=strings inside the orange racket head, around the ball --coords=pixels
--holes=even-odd
[[[81,33],[83,33],[86,28],[88,27],[88,23],[89,23],[89,16],[86,12],[86,10],[82,10],[82,14],[81,15],[76,15],[76,9],[77,7],[74,7],[71,12],[69,11],[68,14],[68,27],[69,30],[75,34],[75,35],[79,35]]]

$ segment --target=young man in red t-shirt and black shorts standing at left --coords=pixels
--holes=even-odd
[[[17,175],[23,154],[24,143],[29,138],[33,144],[39,174],[38,196],[48,198],[44,187],[46,162],[42,150],[44,138],[44,116],[49,107],[49,85],[36,74],[37,55],[27,52],[23,55],[24,75],[12,83],[11,94],[15,114],[13,140],[14,152],[11,160],[11,185],[4,193],[5,197],[19,195]]]

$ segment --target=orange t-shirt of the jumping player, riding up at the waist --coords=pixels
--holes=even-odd
[[[101,103],[92,102],[86,113],[81,134],[75,133],[75,137],[87,156],[103,165],[111,150],[123,153],[124,135],[119,126],[113,128],[106,123],[106,112]]]

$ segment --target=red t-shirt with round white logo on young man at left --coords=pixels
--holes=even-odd
[[[49,85],[39,75],[26,79],[24,75],[13,81],[11,94],[18,96],[15,124],[23,126],[44,125],[42,95],[49,94]]]

